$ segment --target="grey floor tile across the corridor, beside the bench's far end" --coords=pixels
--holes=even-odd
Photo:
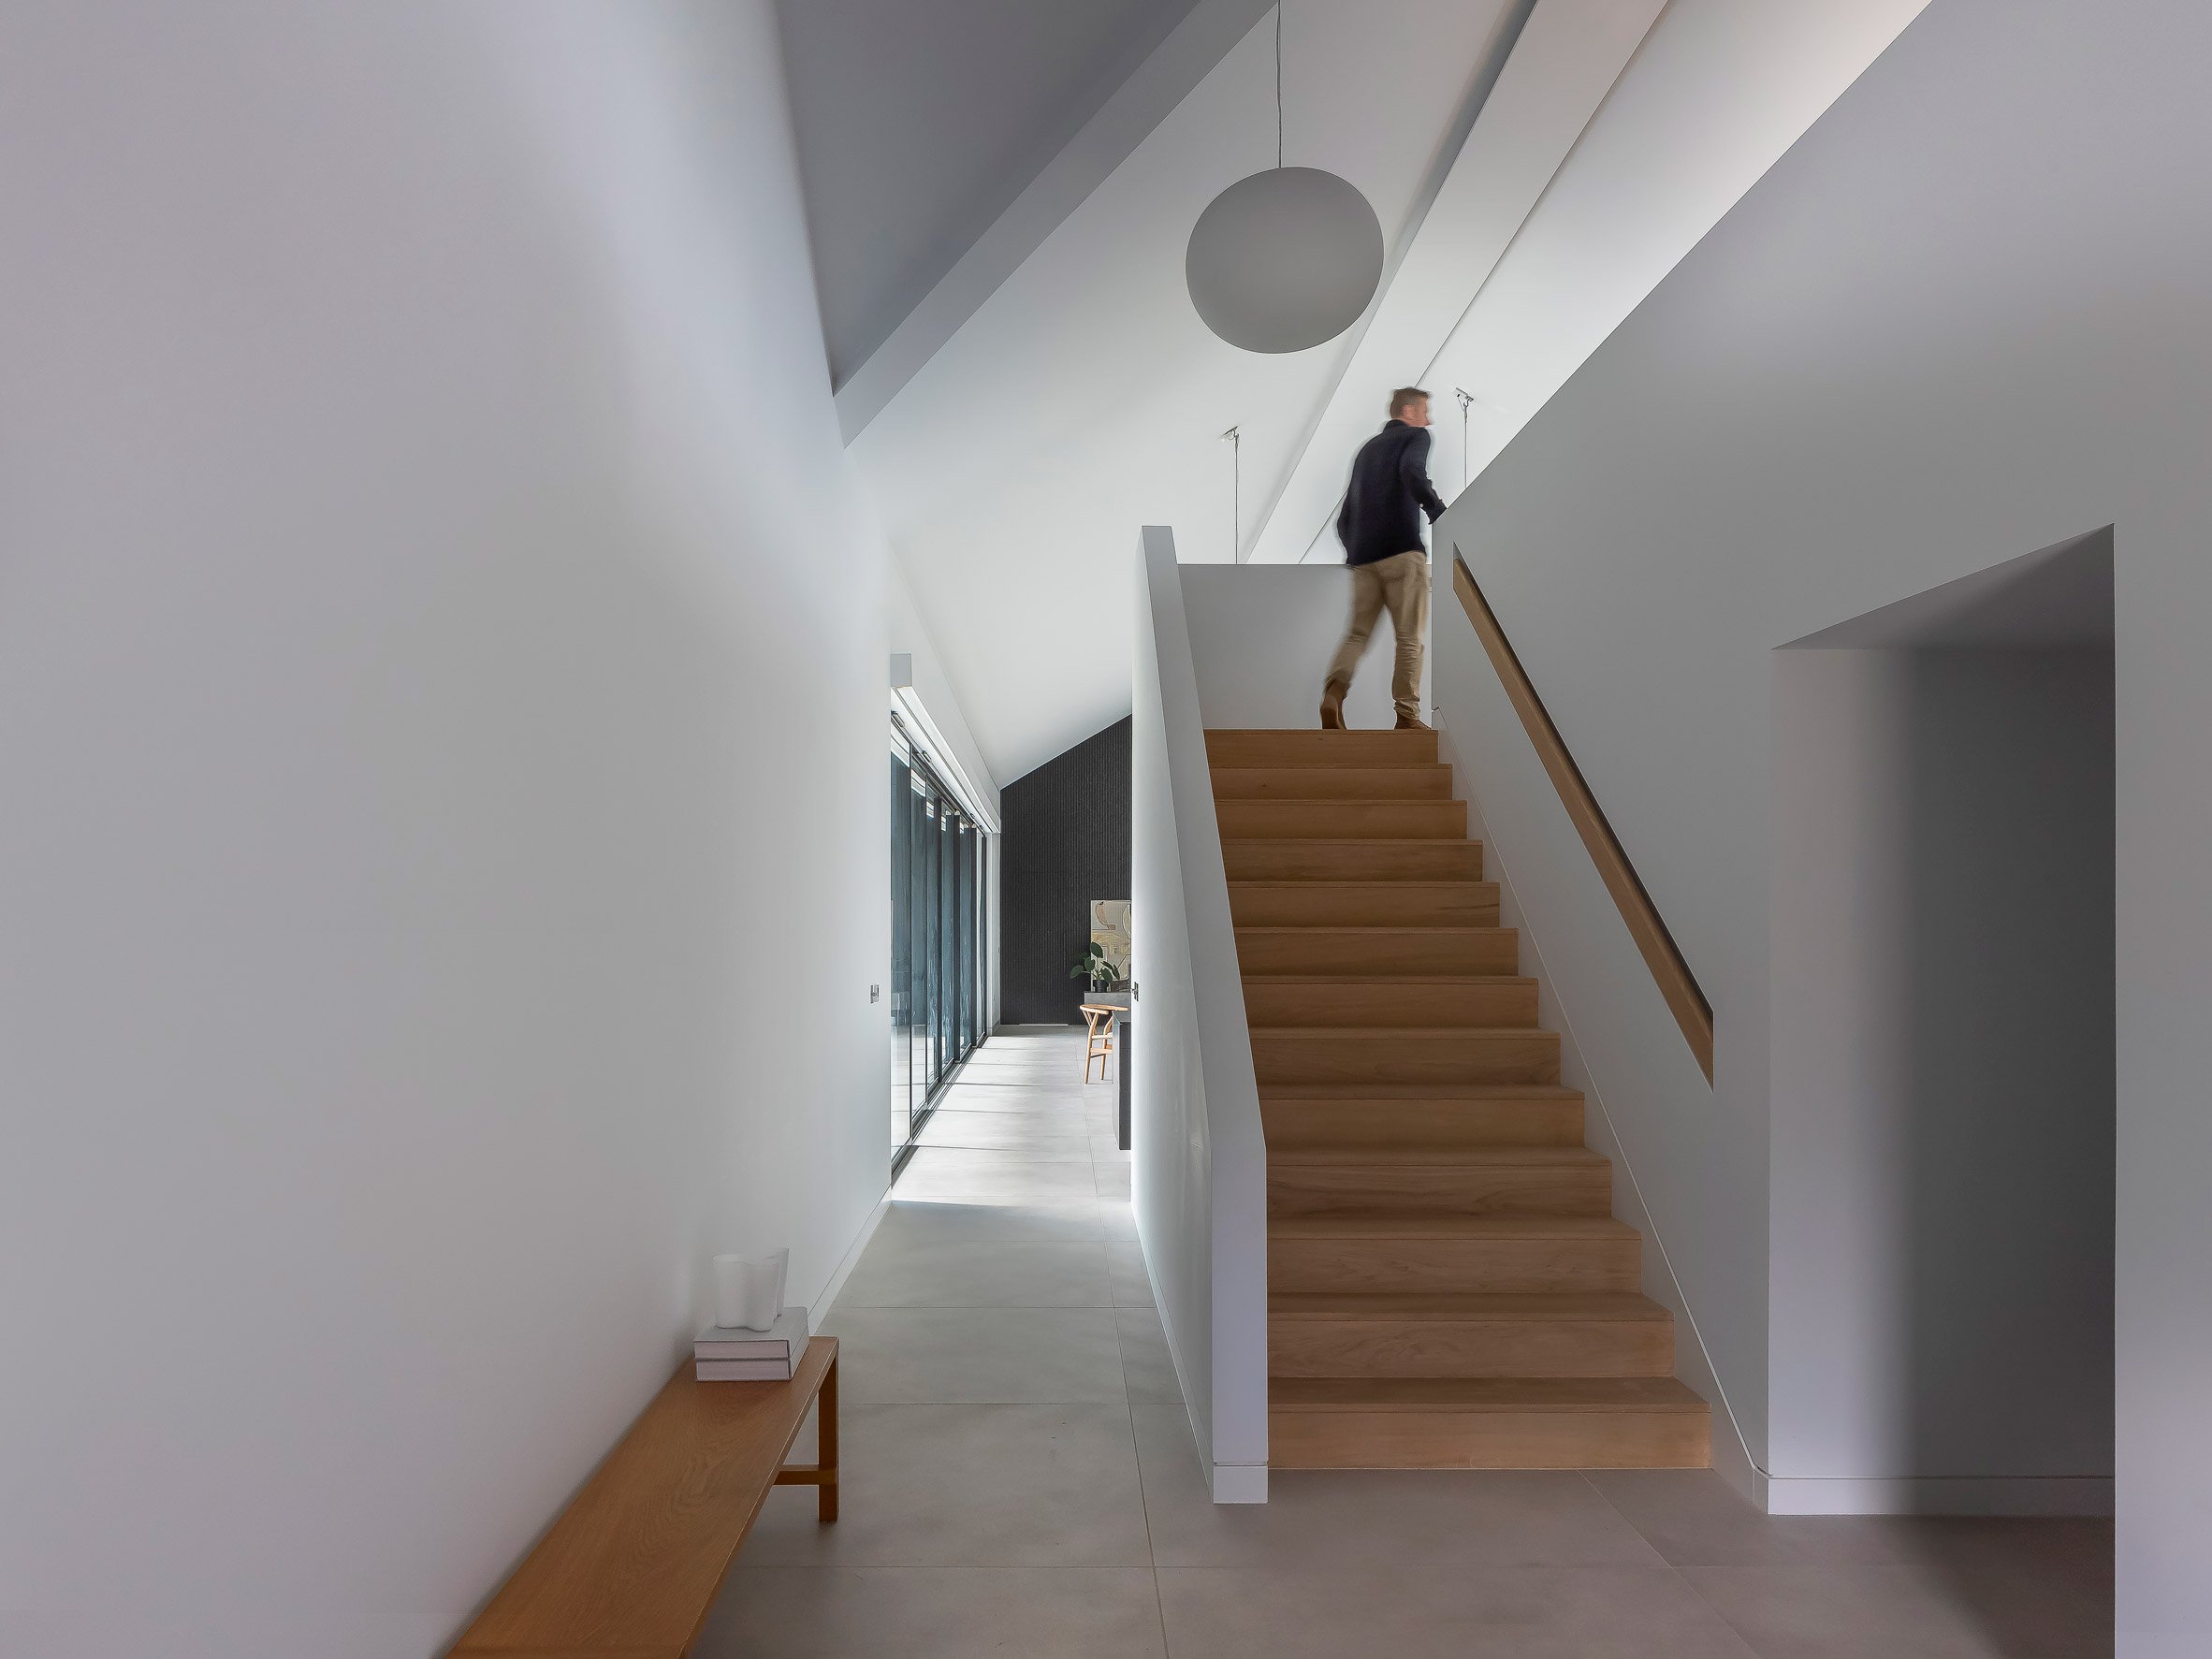
[[[1121,1405],[1121,1338],[1110,1307],[838,1307],[852,1405]]]

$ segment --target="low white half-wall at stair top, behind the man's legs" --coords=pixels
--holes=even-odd
[[[1349,568],[1186,564],[1183,608],[1208,726],[1321,726],[1321,681],[1352,619]],[[1394,650],[1396,635],[1385,615],[1352,677],[1345,723],[1383,730],[1396,721],[1389,701]],[[1427,661],[1420,695],[1427,703]]]

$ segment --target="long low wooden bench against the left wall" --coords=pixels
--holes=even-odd
[[[821,1398],[821,1462],[785,1464]],[[668,1378],[451,1659],[681,1659],[770,1486],[814,1486],[836,1520],[836,1338],[790,1383]]]

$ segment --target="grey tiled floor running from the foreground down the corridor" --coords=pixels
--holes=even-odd
[[[978,1051],[825,1329],[843,1520],[770,1495],[703,1659],[2081,1659],[2104,1522],[1770,1520],[1710,1473],[1276,1473],[1217,1506],[1082,1033]]]

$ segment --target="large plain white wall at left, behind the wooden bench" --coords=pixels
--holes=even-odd
[[[887,1175],[765,0],[0,22],[0,1652],[442,1652]]]

